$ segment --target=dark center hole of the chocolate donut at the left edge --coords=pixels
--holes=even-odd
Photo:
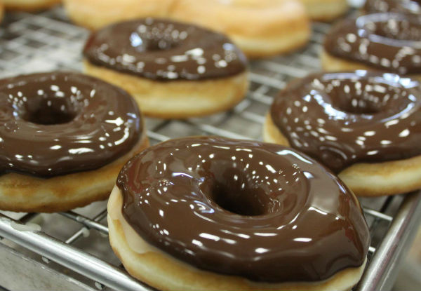
[[[77,111],[67,98],[29,98],[20,114],[25,121],[45,126],[69,123]]]

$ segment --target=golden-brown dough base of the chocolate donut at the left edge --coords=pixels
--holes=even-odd
[[[149,140],[143,133],[130,152],[97,170],[46,179],[18,173],[1,175],[0,209],[58,212],[106,199],[124,163],[148,145]]]

